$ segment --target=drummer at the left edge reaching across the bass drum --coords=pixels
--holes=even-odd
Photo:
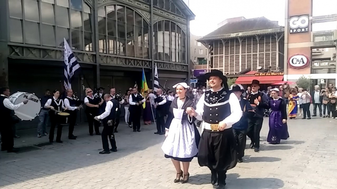
[[[14,148],[14,138],[12,124],[13,119],[11,112],[13,110],[19,109],[24,104],[28,103],[28,99],[24,100],[20,104],[14,105],[9,101],[8,97],[10,95],[9,88],[2,87],[0,89],[0,134],[1,134],[1,151],[7,150],[7,152],[17,152],[18,150]]]

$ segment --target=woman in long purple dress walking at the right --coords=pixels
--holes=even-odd
[[[271,110],[269,116],[269,133],[267,142],[271,144],[279,144],[281,139],[289,138],[287,127],[286,104],[281,96],[279,89],[271,89],[271,99],[269,107]]]

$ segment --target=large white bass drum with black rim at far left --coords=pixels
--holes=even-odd
[[[28,99],[29,97],[29,99]],[[32,120],[41,111],[41,101],[35,94],[17,92],[9,96],[8,98],[14,105],[20,104],[24,100],[28,99],[28,103],[21,106],[17,110],[14,110],[15,115],[21,120]]]

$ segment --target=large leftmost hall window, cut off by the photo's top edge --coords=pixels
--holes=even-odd
[[[10,41],[92,51],[92,14],[83,0],[9,0]],[[24,10],[24,12],[22,12]]]

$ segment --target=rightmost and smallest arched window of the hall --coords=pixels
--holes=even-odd
[[[186,63],[186,35],[179,25],[159,21],[153,25],[154,58],[167,62]]]

